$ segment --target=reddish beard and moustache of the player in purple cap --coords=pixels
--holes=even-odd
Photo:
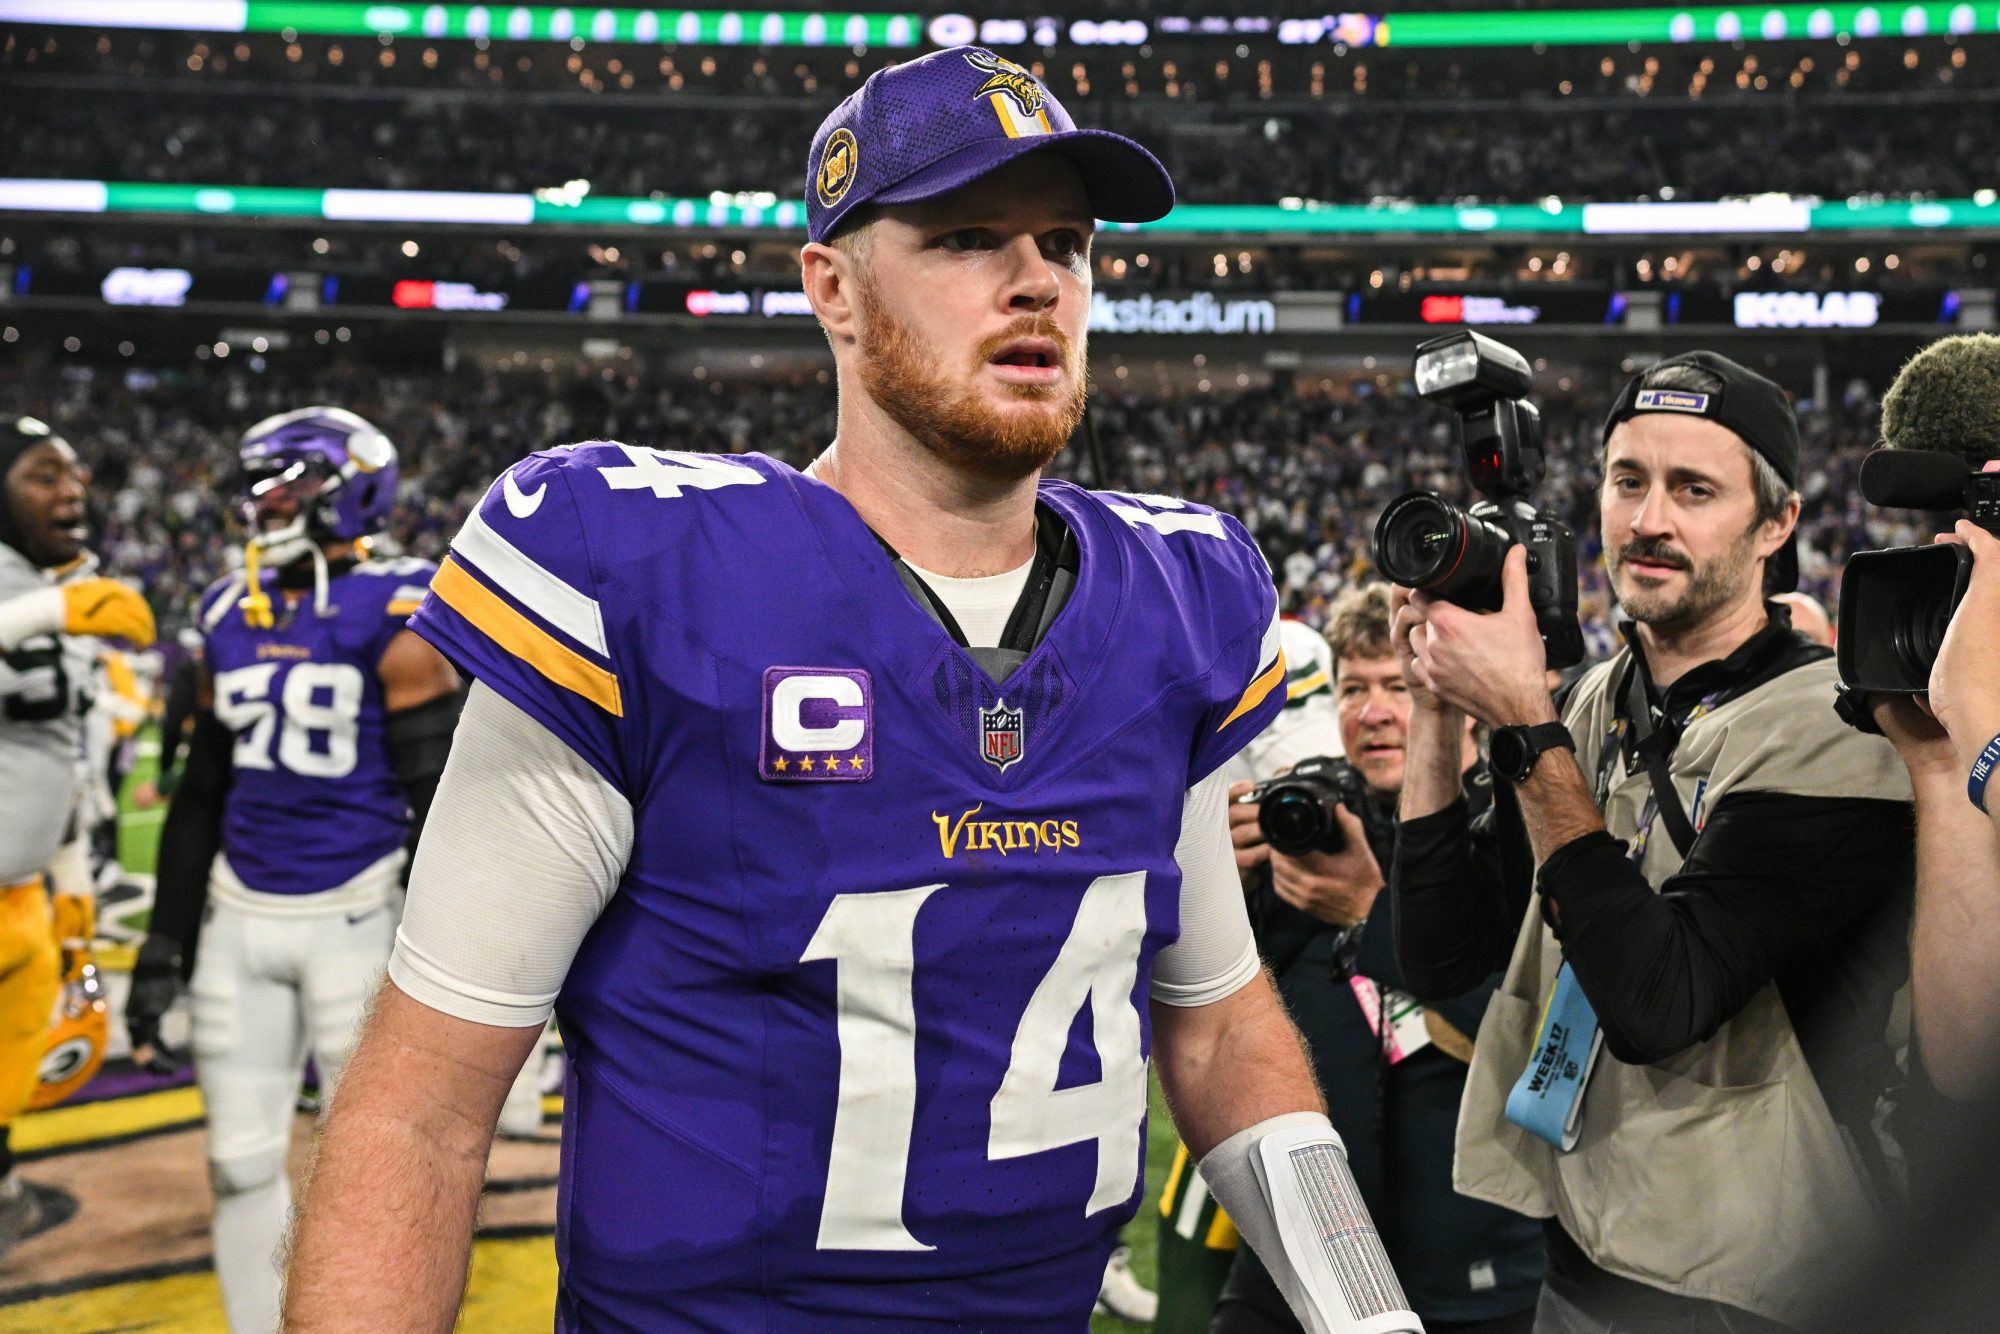
[[[1084,418],[1084,348],[1050,318],[1022,316],[974,352],[972,376],[1016,338],[1056,344],[1064,374],[1056,384],[1008,384],[1008,406],[984,398],[982,384],[940,364],[938,350],[882,302],[876,284],[860,282],[862,388],[926,450],[992,482],[1020,482],[1048,466]]]

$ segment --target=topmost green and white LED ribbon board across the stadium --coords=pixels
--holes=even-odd
[[[1220,8],[1220,6],[1218,6]],[[640,10],[542,4],[346,4],[336,0],[0,0],[0,20],[72,28],[634,42],[642,46],[1140,46],[1148,40],[1274,40],[1280,46],[1608,46],[1624,42],[1782,42],[2000,32],[1992,4],[1768,4],[1686,8],[1528,8],[1480,14],[1258,14],[972,18],[776,10]]]

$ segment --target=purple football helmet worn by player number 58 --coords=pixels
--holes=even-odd
[[[396,504],[396,446],[346,408],[264,418],[244,432],[236,456],[244,522],[272,564],[326,542],[366,538]],[[266,528],[268,514],[284,522]]]

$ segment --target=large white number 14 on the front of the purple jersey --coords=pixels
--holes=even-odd
[[[838,964],[840,1102],[820,1208],[820,1250],[930,1250],[902,1222],[916,1124],[916,914],[942,884],[840,894],[800,962]],[[988,1158],[1096,1142],[1084,1214],[1122,1204],[1138,1180],[1146,1062],[1132,1004],[1146,936],[1146,872],[1090,882],[1056,962],[1028,998],[992,1096]],[[1088,1000],[1102,1078],[1056,1088],[1070,1024]]]

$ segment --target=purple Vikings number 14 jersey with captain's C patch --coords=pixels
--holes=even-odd
[[[1284,664],[1236,520],[1040,494],[1080,574],[1002,684],[758,454],[534,454],[452,544],[410,626],[634,812],[556,1004],[558,1328],[1088,1324],[1184,792]]]

